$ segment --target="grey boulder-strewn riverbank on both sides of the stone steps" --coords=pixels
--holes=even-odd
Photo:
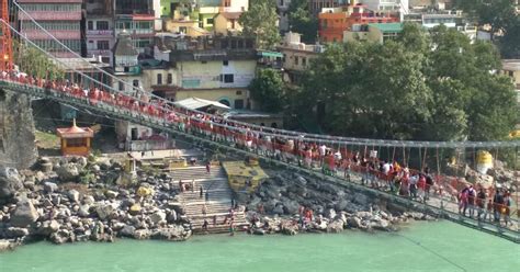
[[[253,193],[237,195],[251,234],[395,231],[411,218],[432,219],[319,180],[283,171],[271,177]],[[146,169],[131,179],[110,159],[41,158],[32,170],[2,168],[0,251],[42,239],[57,245],[117,237],[182,241],[192,227],[178,195],[178,181],[167,174]],[[302,207],[313,216],[304,219]]]

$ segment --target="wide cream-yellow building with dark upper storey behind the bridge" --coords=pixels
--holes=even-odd
[[[158,41],[155,58],[174,68],[156,72],[151,86],[161,97],[218,101],[234,109],[250,107],[248,86],[255,78],[255,41],[235,36]]]

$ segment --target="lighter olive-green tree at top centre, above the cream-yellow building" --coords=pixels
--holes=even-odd
[[[240,15],[238,22],[242,25],[246,36],[256,38],[257,48],[273,49],[280,43],[274,0],[251,1],[249,10]]]

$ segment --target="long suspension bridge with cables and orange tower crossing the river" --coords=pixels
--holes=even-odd
[[[422,211],[463,226],[520,242],[518,216],[515,215],[518,213],[518,199],[510,202],[512,204],[509,205],[494,200],[491,213],[498,215],[502,220],[489,222],[465,216],[461,214],[460,203],[456,200],[457,189],[460,189],[457,186],[461,185],[459,178],[456,178],[459,174],[448,174],[442,168],[443,155],[457,154],[459,159],[462,157],[462,160],[466,160],[471,155],[475,156],[477,150],[489,150],[495,154],[499,151],[512,152],[516,165],[519,140],[440,143],[365,139],[306,134],[225,120],[218,115],[184,109],[160,97],[146,93],[86,59],[83,61],[87,67],[110,79],[112,84],[78,70],[56,57],[56,50],[48,52],[42,48],[23,35],[14,23],[10,23],[13,13],[24,14],[39,27],[44,35],[59,45],[60,49],[82,59],[81,56],[42,27],[19,3],[2,0],[0,8],[2,31],[0,35],[0,56],[2,56],[0,59],[0,88],[3,90],[50,99],[113,120],[127,121],[178,135],[212,148],[244,156],[256,156],[268,163],[318,177],[324,182],[363,191],[410,209]],[[27,48],[37,49],[55,64],[65,67],[67,79],[52,77],[49,72],[36,77],[16,69],[21,66],[13,57],[14,41],[23,45],[16,48],[18,55],[23,55]],[[129,87],[132,91],[120,91],[112,87],[117,84]],[[409,174],[427,172],[433,177],[436,182],[436,185],[432,186],[436,188],[434,192],[428,201],[425,197],[412,199],[409,194],[399,195],[398,192],[391,190],[394,181],[392,178],[395,177],[371,168],[371,163],[360,163],[355,158],[358,154],[362,154],[362,158],[368,158],[372,165],[377,165],[386,157],[387,161],[400,161],[404,169],[409,166]],[[427,167],[429,163],[433,167]],[[411,170],[412,166],[419,170]],[[513,179],[517,179],[518,183],[518,175]],[[368,184],[369,180],[372,181],[370,185]],[[518,191],[518,188],[513,190]],[[487,199],[491,199],[491,195],[498,191],[500,190],[494,183],[487,189]]]

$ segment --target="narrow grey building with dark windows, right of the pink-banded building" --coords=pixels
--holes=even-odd
[[[111,64],[114,47],[114,0],[86,1],[87,56]]]

